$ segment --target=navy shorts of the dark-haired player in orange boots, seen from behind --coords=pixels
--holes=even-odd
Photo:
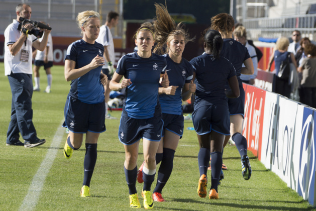
[[[230,119],[227,103],[201,106],[192,113],[193,125],[198,135],[210,133],[212,130],[230,135]]]

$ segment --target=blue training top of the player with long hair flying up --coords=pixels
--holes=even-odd
[[[193,78],[192,65],[184,58],[181,63],[174,62],[168,54],[163,55],[167,60],[166,72],[169,78],[169,86],[179,86],[175,95],[159,94],[161,111],[165,114],[181,115],[182,114],[182,87],[189,83]],[[160,86],[161,87],[161,86]]]

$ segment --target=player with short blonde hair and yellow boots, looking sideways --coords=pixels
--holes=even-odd
[[[65,104],[65,122],[69,134],[64,147],[66,158],[78,150],[85,136],[84,177],[81,197],[90,196],[90,181],[96,162],[99,134],[106,131],[104,86],[108,78],[101,73],[104,64],[103,46],[95,42],[100,31],[99,14],[84,11],[78,14],[77,24],[83,35],[69,45],[65,59],[65,78],[71,80]]]

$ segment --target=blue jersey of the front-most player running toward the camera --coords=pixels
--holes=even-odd
[[[158,100],[160,74],[166,71],[166,59],[152,53],[150,58],[142,58],[137,52],[123,56],[116,72],[131,79],[126,89],[125,110],[129,117],[148,119],[154,116]]]

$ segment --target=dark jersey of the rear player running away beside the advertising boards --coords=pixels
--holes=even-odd
[[[221,56],[227,58],[235,67],[239,85],[242,86],[243,82],[240,79],[241,68],[246,59],[250,58],[247,48],[240,42],[234,39],[223,39],[223,48]],[[229,88],[227,84],[227,88]]]

